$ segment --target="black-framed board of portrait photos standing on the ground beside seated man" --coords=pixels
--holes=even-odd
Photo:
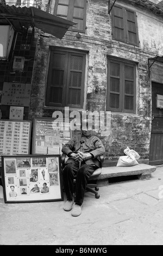
[[[2,156],[4,202],[64,200],[60,157],[60,154]]]

